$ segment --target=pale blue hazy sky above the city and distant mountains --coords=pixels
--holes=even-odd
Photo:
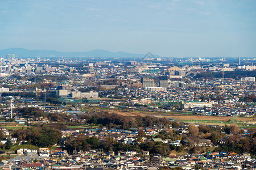
[[[255,0],[0,0],[0,49],[256,57]]]

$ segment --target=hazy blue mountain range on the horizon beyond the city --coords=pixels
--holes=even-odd
[[[15,54],[18,58],[55,58],[55,57],[77,57],[77,58],[89,58],[89,57],[104,57],[104,58],[143,58],[146,54],[133,54],[126,52],[110,52],[108,50],[91,50],[88,52],[58,52],[55,50],[28,50],[23,48],[9,48],[0,50],[0,56],[6,57],[6,54]],[[155,57],[158,57],[157,55]],[[146,57],[148,58],[148,57]]]

